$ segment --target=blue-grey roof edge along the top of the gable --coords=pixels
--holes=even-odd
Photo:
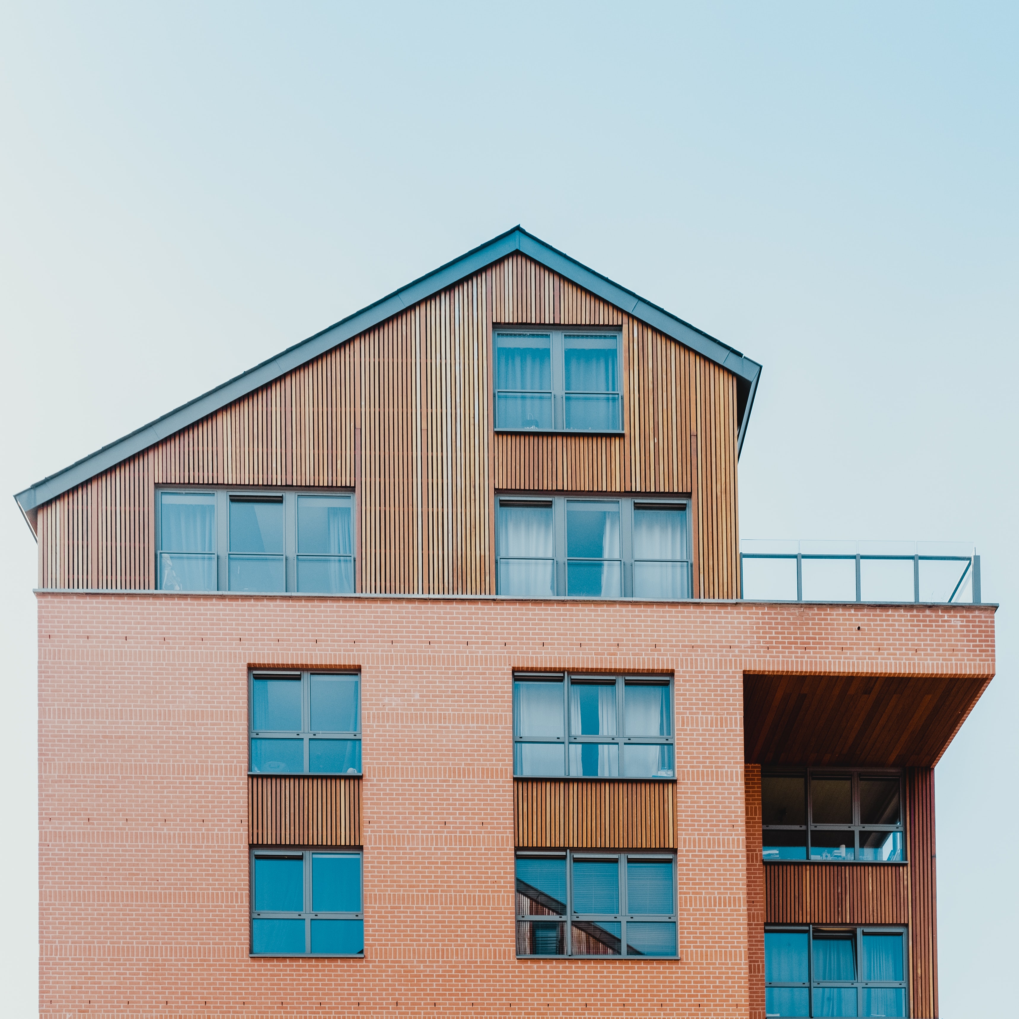
[[[128,457],[147,449],[156,442],[213,414],[221,407],[232,404],[235,399],[239,399],[273,379],[285,375],[326,351],[365,332],[367,329],[371,329],[380,322],[384,322],[393,315],[430,298],[438,290],[451,286],[466,276],[497,262],[515,251],[523,252],[535,262],[557,272],[578,286],[589,290],[609,304],[615,305],[628,315],[646,322],[659,332],[672,336],[685,346],[689,346],[709,361],[713,361],[731,371],[737,378],[738,412],[740,415],[739,448],[743,448],[743,437],[746,434],[747,421],[750,418],[750,409],[753,406],[754,393],[757,389],[757,380],[760,378],[761,366],[756,361],[745,358],[739,351],[684,322],[663,308],[645,301],[633,290],[628,290],[625,286],[613,283],[593,269],[581,265],[569,255],[564,255],[562,252],[556,251],[543,240],[539,240],[534,234],[528,233],[523,227],[515,226],[512,230],[500,233],[487,244],[475,248],[452,262],[447,262],[428,275],[422,276],[388,297],[363,308],[360,312],[355,312],[345,319],[340,319],[335,325],[287,347],[282,354],[277,354],[276,357],[263,361],[262,364],[256,365],[228,382],[216,386],[215,389],[210,389],[207,393],[178,407],[175,411],[164,414],[161,418],[157,418],[129,435],[125,435],[91,455],[71,464],[70,467],[36,482],[14,496],[17,504],[23,514],[32,514],[34,519],[34,511],[44,502],[48,502],[75,485],[79,485],[83,481],[88,481],[89,478],[93,478]]]

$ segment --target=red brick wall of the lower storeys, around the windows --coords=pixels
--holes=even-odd
[[[994,610],[41,593],[39,642],[44,1015],[747,1016],[744,671],[989,676]],[[248,957],[250,664],[362,671],[364,960]],[[515,958],[515,666],[675,671],[681,960]]]

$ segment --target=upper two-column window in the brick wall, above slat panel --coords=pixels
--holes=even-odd
[[[252,673],[253,774],[361,774],[361,678]]]

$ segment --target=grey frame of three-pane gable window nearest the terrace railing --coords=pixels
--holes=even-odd
[[[582,595],[570,594],[569,591],[569,567],[571,562],[605,562],[616,561],[612,559],[585,559],[571,557],[568,554],[567,535],[567,511],[571,502],[615,502],[620,506],[620,559],[622,564],[623,591],[619,595]],[[554,568],[553,577],[555,591],[551,595],[554,598],[636,598],[639,601],[687,601],[693,598],[693,548],[691,533],[690,515],[691,497],[689,495],[621,495],[618,493],[608,495],[598,495],[585,492],[580,495],[540,495],[534,492],[527,494],[515,494],[513,492],[497,492],[495,495],[495,593],[502,595],[501,591],[501,564],[505,561],[536,561],[534,556],[503,555],[501,548],[501,538],[499,527],[499,511],[502,506],[506,508],[520,508],[534,506],[535,508],[552,509],[552,540]],[[686,559],[647,559],[635,558],[634,556],[634,513],[643,509],[662,511],[677,509],[685,515],[686,524]],[[548,561],[547,556],[537,557],[541,561]],[[635,562],[678,562],[686,567],[687,590],[690,594],[686,598],[651,598],[647,595],[634,594],[634,564]],[[508,594],[503,597],[511,598],[537,598],[547,597],[546,595],[515,595]]]

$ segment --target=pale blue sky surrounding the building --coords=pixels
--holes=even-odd
[[[744,536],[976,542],[999,678],[937,768],[942,1014],[1010,1014],[1017,49],[1006,3],[7,0],[3,487],[522,223],[764,365]],[[31,1015],[36,547],[0,526]]]

